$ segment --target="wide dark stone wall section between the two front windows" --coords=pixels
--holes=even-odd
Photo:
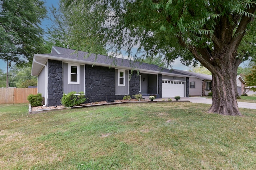
[[[115,95],[115,69],[85,65],[85,97],[86,103],[122,99]]]

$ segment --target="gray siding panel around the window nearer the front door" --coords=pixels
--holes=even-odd
[[[125,71],[125,86],[118,86],[118,70],[115,70],[115,94],[129,94],[129,75],[128,71]]]

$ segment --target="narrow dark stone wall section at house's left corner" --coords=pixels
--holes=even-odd
[[[48,60],[48,99],[47,106],[61,105],[62,61]]]

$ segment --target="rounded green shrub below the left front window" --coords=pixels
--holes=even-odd
[[[78,106],[86,101],[84,92],[79,92],[76,95],[76,92],[70,92],[68,94],[63,94],[61,99],[61,104],[65,107]]]

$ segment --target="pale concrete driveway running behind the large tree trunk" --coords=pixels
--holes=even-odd
[[[175,100],[172,98],[172,100]],[[181,98],[180,100],[189,100],[192,103],[204,103],[204,104],[212,104],[211,98]],[[247,108],[247,109],[256,109],[256,103],[247,103],[247,102],[237,102],[238,107]]]

